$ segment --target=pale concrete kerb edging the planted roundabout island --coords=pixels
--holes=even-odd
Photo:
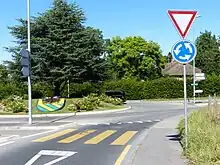
[[[60,113],[60,114],[36,114],[32,117],[68,117],[68,116],[83,116],[83,115],[95,115],[95,114],[106,114],[119,111],[127,111],[131,109],[131,106],[122,109],[104,110],[104,111],[91,111],[91,112],[77,112],[77,113]],[[24,118],[27,115],[0,115],[0,118]]]

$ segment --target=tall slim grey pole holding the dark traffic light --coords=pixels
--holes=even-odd
[[[31,55],[31,29],[30,29],[30,0],[27,0],[27,22],[28,22],[28,51]],[[31,58],[29,58],[31,61]],[[31,68],[31,62],[30,67]],[[28,76],[28,123],[32,124],[32,96],[31,96],[31,71]]]

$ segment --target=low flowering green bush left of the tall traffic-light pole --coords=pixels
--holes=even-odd
[[[3,110],[6,112],[27,112],[27,106],[20,96],[12,95],[7,99],[2,100]]]

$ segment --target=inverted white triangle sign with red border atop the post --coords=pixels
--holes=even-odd
[[[196,18],[197,11],[168,10],[168,14],[180,36],[184,39]]]

